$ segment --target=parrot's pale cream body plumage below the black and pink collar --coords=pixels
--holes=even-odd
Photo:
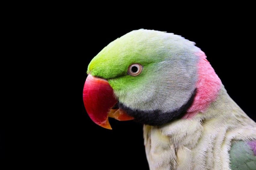
[[[219,97],[204,113],[198,113],[190,120],[175,120],[158,127],[144,126],[145,148],[150,169],[233,169],[236,166],[234,161],[240,164],[239,169],[254,168],[253,161],[248,160],[245,166],[239,157],[243,157],[244,154],[248,156],[247,153],[250,153],[250,159],[255,162],[256,157],[250,145],[240,146],[248,141],[254,141],[255,132],[256,123],[239,108],[222,86]],[[163,138],[165,140],[161,142],[165,141],[168,144],[152,143]],[[166,145],[171,147],[162,147]],[[158,150],[162,147],[165,152],[168,150],[172,153],[169,157],[162,157],[161,167],[155,166],[159,160],[152,157],[152,151],[155,151],[156,147]],[[232,157],[229,156],[229,152],[233,154]],[[241,156],[236,157],[237,153]]]

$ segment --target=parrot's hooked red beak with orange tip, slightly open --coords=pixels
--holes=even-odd
[[[107,129],[112,129],[108,117],[120,121],[134,119],[121,109],[111,109],[117,103],[113,89],[107,80],[91,74],[88,75],[84,84],[83,103],[92,121]]]

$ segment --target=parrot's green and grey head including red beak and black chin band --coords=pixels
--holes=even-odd
[[[194,42],[179,35],[131,31],[90,62],[83,89],[86,111],[107,129],[111,129],[108,117],[159,126],[184,117],[191,108],[190,112],[200,111],[198,93],[211,91],[200,91],[202,84],[220,84],[208,63]],[[213,70],[213,76],[199,73],[200,69]]]

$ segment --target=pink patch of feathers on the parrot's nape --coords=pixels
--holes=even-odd
[[[197,92],[192,105],[182,117],[183,119],[192,118],[198,112],[205,112],[211,103],[216,100],[221,88],[220,78],[206,59],[204,52],[200,51],[196,55],[200,57],[198,62],[198,80],[196,83]]]

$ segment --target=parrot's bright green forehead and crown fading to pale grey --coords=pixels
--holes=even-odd
[[[173,56],[198,51],[195,43],[179,35],[154,30],[136,30],[114,40],[90,62],[87,73],[104,79],[124,76],[130,64],[143,66],[159,63]]]

